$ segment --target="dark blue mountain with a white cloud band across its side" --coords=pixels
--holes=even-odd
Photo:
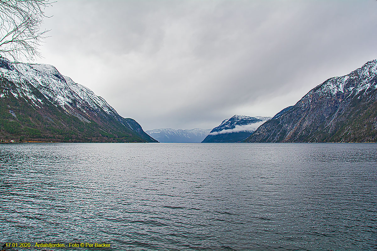
[[[213,128],[210,134],[205,137],[202,143],[233,143],[241,142],[249,137],[258,126],[271,117],[248,117],[234,115],[225,119],[221,124]],[[262,120],[263,119],[263,120]]]

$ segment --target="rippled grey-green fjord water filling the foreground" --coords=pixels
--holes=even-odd
[[[376,144],[2,144],[0,168],[1,242],[376,247]]]

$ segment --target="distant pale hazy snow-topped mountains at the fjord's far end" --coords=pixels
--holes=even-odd
[[[154,129],[146,131],[151,137],[161,143],[200,143],[210,133],[211,129],[195,128],[182,129]]]

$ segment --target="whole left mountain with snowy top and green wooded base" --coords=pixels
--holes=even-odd
[[[0,58],[0,139],[156,142],[89,88],[52,65]]]

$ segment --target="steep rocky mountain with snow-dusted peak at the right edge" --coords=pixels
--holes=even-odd
[[[375,59],[313,88],[245,142],[376,142],[376,117]]]

